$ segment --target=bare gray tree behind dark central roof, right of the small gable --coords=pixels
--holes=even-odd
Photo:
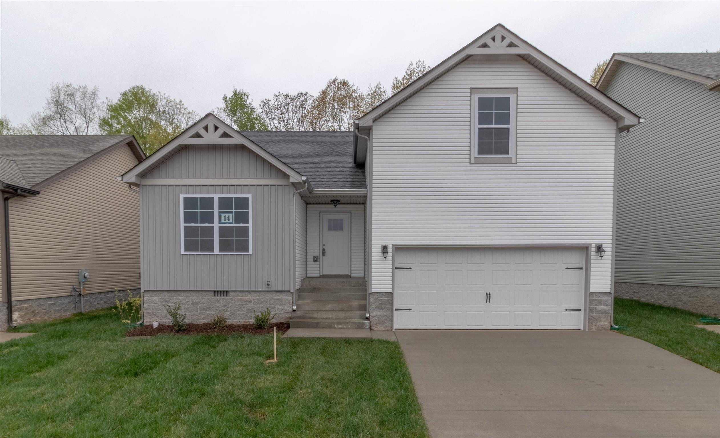
[[[312,94],[275,93],[272,99],[260,101],[260,112],[272,131],[307,131],[312,129],[310,108]]]

